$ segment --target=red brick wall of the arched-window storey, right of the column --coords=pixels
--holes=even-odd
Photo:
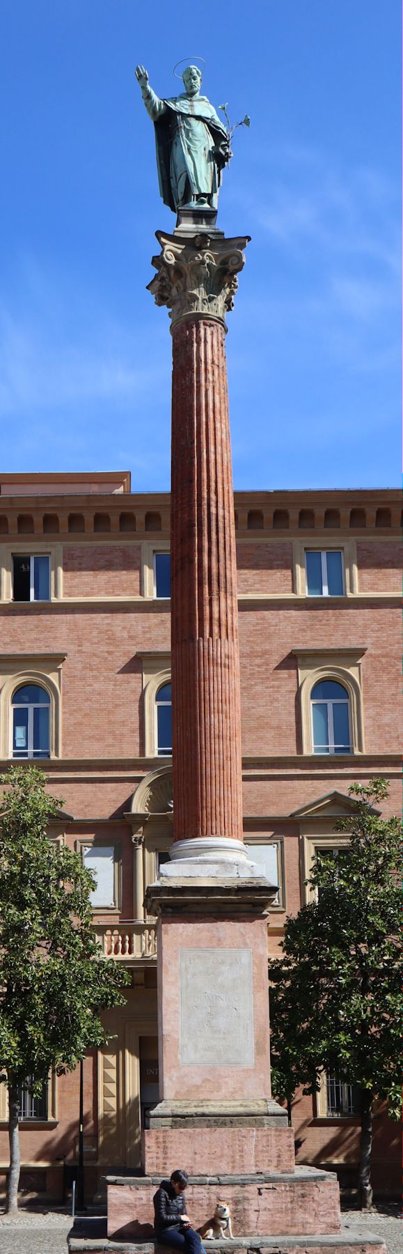
[[[298,667],[292,650],[367,646],[362,661],[367,752],[398,752],[400,611],[345,603],[333,609],[305,602],[287,608],[240,607],[243,752],[302,752]]]

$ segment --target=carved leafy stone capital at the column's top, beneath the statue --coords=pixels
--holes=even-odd
[[[191,240],[156,231],[161,252],[148,283],[155,305],[166,305],[173,325],[183,319],[212,317],[224,324],[233,308],[238,273],[245,265],[249,236],[234,240],[195,234]]]

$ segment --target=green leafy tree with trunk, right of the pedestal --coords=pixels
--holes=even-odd
[[[314,899],[288,918],[283,957],[270,967],[273,1091],[290,1101],[320,1087],[323,1071],[360,1093],[359,1205],[372,1205],[374,1099],[398,1117],[402,1091],[400,824],[382,819],[383,779],[353,784],[349,835],[335,856],[317,854]]]

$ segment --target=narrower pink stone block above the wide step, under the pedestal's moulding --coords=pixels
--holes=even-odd
[[[262,1171],[293,1171],[292,1127],[181,1127],[145,1129],[141,1162],[146,1176],[160,1171],[161,1162],[185,1162],[189,1175],[229,1175]],[[164,1172],[163,1172],[164,1175]]]

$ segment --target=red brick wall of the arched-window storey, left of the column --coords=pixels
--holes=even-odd
[[[13,608],[4,652],[66,651],[63,663],[63,756],[144,754],[140,650],[170,647],[169,608],[138,613],[108,604]],[[94,811],[93,811],[94,813]],[[95,811],[96,813],[96,811]]]

